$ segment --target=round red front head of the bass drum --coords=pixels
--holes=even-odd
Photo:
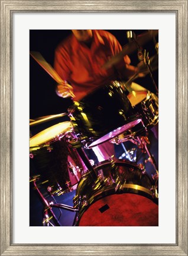
[[[114,194],[92,204],[79,226],[158,226],[158,205],[137,194]]]

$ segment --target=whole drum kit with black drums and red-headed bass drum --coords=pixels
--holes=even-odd
[[[145,36],[140,38],[137,43],[146,41]],[[129,48],[125,48],[121,55],[129,53]],[[38,63],[45,65],[49,74],[59,80],[53,68],[49,69],[38,56],[35,55]],[[106,66],[119,58],[115,56]],[[144,62],[150,65],[145,58],[148,56]],[[153,59],[151,68],[156,68],[157,57]],[[68,113],[30,120],[33,127],[59,116],[70,118],[30,137],[30,161],[38,157],[42,166],[42,175],[33,175],[30,182],[44,203],[44,226],[61,226],[54,208],[72,211],[73,226],[158,226],[158,166],[147,146],[150,143],[148,129],[158,124],[158,102],[151,91],[129,93],[126,86],[125,82],[112,81],[74,102]],[[86,150],[107,141],[135,143],[148,154],[147,161],[153,165],[155,175],[150,177],[144,165],[113,156],[97,164],[89,160]],[[51,152],[54,153],[49,160]],[[61,165],[57,168],[59,162]],[[53,165],[50,171],[49,165]],[[46,176],[41,179],[43,175]],[[72,206],[48,200],[47,195],[55,197],[73,190]]]

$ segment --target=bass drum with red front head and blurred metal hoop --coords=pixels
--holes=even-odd
[[[144,170],[126,160],[104,161],[80,179],[74,197],[74,226],[158,226],[158,199]]]

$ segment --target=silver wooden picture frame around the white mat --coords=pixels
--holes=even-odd
[[[12,13],[176,13],[176,244],[12,244]],[[187,255],[187,1],[1,1],[1,255]]]

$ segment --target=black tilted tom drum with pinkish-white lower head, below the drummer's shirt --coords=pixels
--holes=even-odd
[[[125,124],[138,119],[124,91],[124,83],[114,81],[96,89],[69,109],[74,131],[87,141],[88,148],[95,147],[122,133]],[[118,128],[122,128],[119,130]],[[109,134],[109,137],[103,137]],[[92,144],[100,138],[98,143]],[[92,144],[92,146],[90,146]]]

